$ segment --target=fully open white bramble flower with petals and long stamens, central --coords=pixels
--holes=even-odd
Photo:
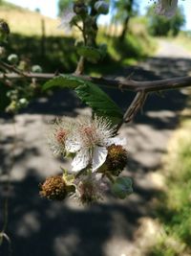
[[[105,162],[108,150],[112,144],[120,144],[121,140],[113,137],[115,128],[111,128],[111,122],[103,117],[85,118],[78,121],[74,139],[66,147],[67,151],[75,152],[72,162],[72,171],[78,172],[88,166],[92,172]]]

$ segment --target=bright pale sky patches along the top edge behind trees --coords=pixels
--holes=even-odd
[[[7,0],[15,5],[29,8],[30,10],[40,9],[40,12],[50,17],[57,15],[58,0]],[[146,7],[149,5],[149,0],[139,0],[140,13],[144,13]],[[179,0],[179,5],[182,6],[186,17],[186,24],[184,29],[191,30],[191,0]],[[104,21],[107,17],[102,18]]]

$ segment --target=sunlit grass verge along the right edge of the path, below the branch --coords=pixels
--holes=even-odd
[[[191,98],[169,144],[166,186],[156,206],[163,234],[147,256],[191,255]]]

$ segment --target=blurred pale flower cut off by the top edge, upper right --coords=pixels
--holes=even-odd
[[[159,15],[172,17],[177,11],[178,0],[159,0],[156,12]]]

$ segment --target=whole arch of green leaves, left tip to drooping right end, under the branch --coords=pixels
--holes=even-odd
[[[121,121],[120,108],[96,84],[72,76],[60,76],[47,81],[43,85],[43,89],[47,90],[54,86],[74,89],[82,102],[92,107],[97,115],[109,118],[113,125],[117,125]]]

